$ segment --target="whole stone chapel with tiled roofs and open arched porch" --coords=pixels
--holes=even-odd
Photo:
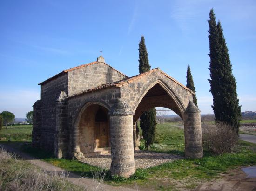
[[[135,172],[136,121],[143,110],[164,107],[184,121],[185,156],[203,155],[201,115],[194,92],[159,68],[128,77],[97,61],[63,70],[39,83],[32,146],[58,158],[80,159],[111,151],[111,174]]]

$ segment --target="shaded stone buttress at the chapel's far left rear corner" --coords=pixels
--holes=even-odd
[[[37,100],[33,105],[33,130],[32,130],[32,146],[40,148],[42,134],[42,112],[41,100]]]

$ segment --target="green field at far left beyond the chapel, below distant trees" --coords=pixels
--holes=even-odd
[[[17,125],[3,127],[0,130],[0,137],[5,137],[6,140],[1,141],[31,141],[32,125]]]

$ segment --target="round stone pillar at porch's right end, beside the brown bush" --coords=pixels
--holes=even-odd
[[[184,114],[186,157],[201,158],[203,156],[200,112],[199,108],[193,102],[189,101]]]

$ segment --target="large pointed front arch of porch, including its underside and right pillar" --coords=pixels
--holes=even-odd
[[[190,99],[190,98],[189,98]],[[137,100],[133,115],[133,143],[134,149],[138,149],[139,132],[136,121],[145,110],[155,107],[164,107],[173,110],[184,121],[185,134],[185,156],[199,158],[202,157],[202,137],[200,110],[189,101],[184,107],[182,95],[176,95],[173,89],[163,80],[156,80],[151,83]]]

